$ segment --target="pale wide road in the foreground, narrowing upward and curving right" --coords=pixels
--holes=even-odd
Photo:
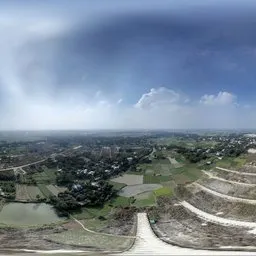
[[[194,250],[173,246],[156,237],[146,213],[138,213],[137,223],[137,238],[133,247],[119,255],[255,255],[255,252]]]

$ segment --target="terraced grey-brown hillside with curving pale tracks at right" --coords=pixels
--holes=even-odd
[[[179,186],[176,199],[158,200],[152,228],[161,239],[193,248],[256,246],[254,167],[214,168]],[[256,169],[256,168],[255,168]],[[252,247],[251,247],[252,248]]]

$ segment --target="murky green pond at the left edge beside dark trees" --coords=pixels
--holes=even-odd
[[[8,203],[0,211],[0,223],[7,225],[42,225],[64,220],[51,205],[40,203]]]

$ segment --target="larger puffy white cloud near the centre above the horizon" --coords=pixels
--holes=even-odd
[[[135,104],[136,108],[151,109],[161,106],[177,104],[180,100],[180,95],[173,90],[165,87],[158,89],[152,88],[150,92],[144,93],[139,101]]]

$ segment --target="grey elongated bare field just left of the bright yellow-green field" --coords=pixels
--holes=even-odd
[[[133,185],[127,186],[120,190],[119,195],[124,197],[132,197],[143,192],[153,191],[158,188],[161,188],[160,184],[142,184],[142,185]]]

